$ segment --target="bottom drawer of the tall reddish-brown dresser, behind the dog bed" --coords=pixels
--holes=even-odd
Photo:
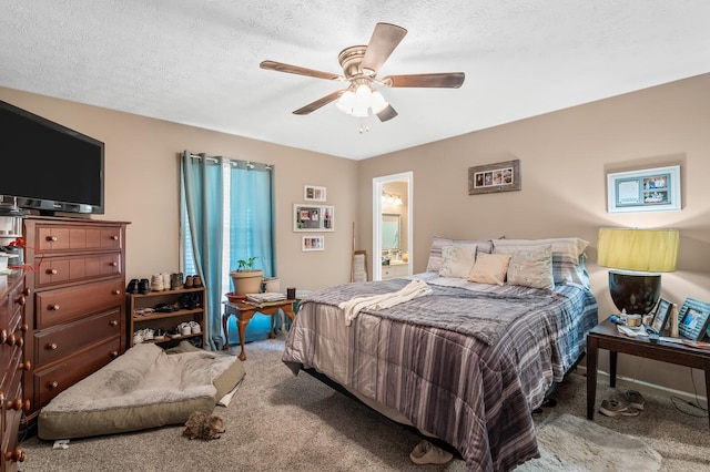
[[[115,337],[85,351],[78,352],[49,369],[36,370],[33,376],[34,398],[39,404],[36,404],[34,409],[45,406],[70,386],[111,362],[119,356],[120,348],[121,339]]]

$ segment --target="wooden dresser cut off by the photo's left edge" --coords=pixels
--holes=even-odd
[[[22,347],[27,339],[28,326],[24,319],[24,306],[28,291],[23,275],[14,270],[10,275],[0,275],[0,471],[18,470],[18,462],[24,460],[19,448],[19,429],[22,412],[30,410],[30,400],[22,391],[22,371],[30,371],[31,363],[23,359]]]

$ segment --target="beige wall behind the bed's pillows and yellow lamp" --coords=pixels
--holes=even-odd
[[[579,236],[599,317],[615,311],[597,260],[600,226],[680,229],[679,269],[662,296],[710,301],[710,74],[362,161],[359,232],[372,232],[372,179],[414,173],[414,273],[434,235],[454,238]],[[475,104],[471,104],[475,111]],[[468,195],[469,166],[520,160],[520,192]],[[607,213],[606,174],[681,165],[682,211]],[[371,247],[363,247],[372,250]],[[688,368],[622,357],[620,373],[693,392]],[[606,363],[602,363],[606,366]],[[699,392],[703,374],[694,372]]]

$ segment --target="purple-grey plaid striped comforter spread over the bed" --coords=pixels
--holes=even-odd
[[[302,300],[283,361],[402,413],[454,445],[470,471],[507,471],[538,454],[531,410],[584,353],[597,324],[589,289],[439,286],[346,326],[341,301],[400,289],[355,283]]]

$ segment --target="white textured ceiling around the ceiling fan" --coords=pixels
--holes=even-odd
[[[0,85],[347,158],[710,71],[708,0],[0,0]],[[265,71],[342,73],[375,23],[408,30],[379,72],[466,73],[460,89],[385,89],[399,115],[358,120],[343,89]]]

